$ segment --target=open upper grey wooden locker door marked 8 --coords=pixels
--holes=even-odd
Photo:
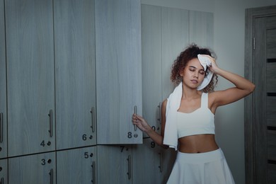
[[[140,1],[96,0],[98,144],[141,144],[132,125],[142,113]]]

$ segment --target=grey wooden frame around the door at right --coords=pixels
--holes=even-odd
[[[266,16],[276,16],[276,6],[265,6],[260,8],[246,9],[246,28],[245,28],[245,60],[244,74],[246,79],[254,83],[254,19]],[[244,100],[244,139],[245,139],[245,168],[246,184],[255,183],[255,93]]]

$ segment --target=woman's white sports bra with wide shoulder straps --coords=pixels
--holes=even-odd
[[[194,134],[214,134],[214,114],[208,108],[208,93],[202,93],[200,108],[176,114],[178,138]]]

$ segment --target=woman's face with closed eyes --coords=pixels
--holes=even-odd
[[[205,71],[200,61],[194,58],[187,63],[183,71],[180,72],[180,76],[182,76],[185,85],[190,86],[190,88],[197,88],[205,78]]]

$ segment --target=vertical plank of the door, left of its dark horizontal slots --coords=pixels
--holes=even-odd
[[[256,18],[255,24],[255,164],[256,164],[256,183],[265,183],[268,171],[268,147],[267,143],[267,125],[266,125],[266,93],[264,89],[266,85],[266,58],[265,45],[266,42],[266,26],[264,18]]]

